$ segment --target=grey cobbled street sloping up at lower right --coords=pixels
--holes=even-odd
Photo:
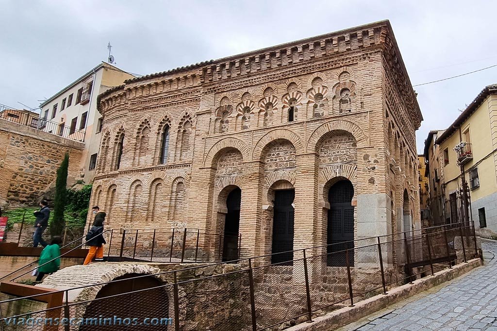
[[[485,265],[433,293],[398,303],[340,330],[497,331],[497,242],[483,241]],[[360,322],[360,321],[359,321]]]

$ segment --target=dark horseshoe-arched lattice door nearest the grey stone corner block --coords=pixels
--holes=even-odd
[[[328,193],[327,265],[346,266],[346,249],[354,248],[354,206],[352,197],[354,187],[349,180],[343,179],[333,184]],[[334,253],[340,252],[340,253]],[[334,254],[331,254],[334,253]],[[354,251],[348,252],[349,265],[354,265]]]

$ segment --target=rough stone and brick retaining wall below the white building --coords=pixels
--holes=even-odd
[[[80,173],[83,143],[0,119],[0,201],[36,204],[69,153],[69,176]]]

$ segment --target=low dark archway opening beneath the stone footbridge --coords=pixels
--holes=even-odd
[[[170,316],[169,300],[162,283],[153,276],[145,276],[137,279],[132,277],[142,276],[138,273],[129,273],[114,280],[122,280],[105,285],[98,292],[95,300],[92,301],[84,312],[84,319],[100,319],[102,323],[93,325],[82,325],[80,331],[105,331],[105,330],[139,330],[139,331],[166,331],[167,325],[172,319],[166,321]],[[156,287],[156,288],[153,288]],[[139,291],[151,288],[149,290]],[[117,295],[131,291],[139,291],[130,294]],[[117,295],[117,296],[113,296]],[[107,298],[109,297],[109,298]],[[140,325],[146,318],[158,319],[149,320],[150,325]],[[104,319],[110,319],[104,320]],[[133,320],[136,319],[136,320]],[[161,321],[161,319],[163,319]],[[138,321],[138,325],[132,325],[133,321]],[[108,324],[107,322],[110,322]],[[130,322],[129,324],[127,322]],[[158,325],[153,325],[158,322]],[[101,325],[99,325],[101,324]],[[171,327],[169,330],[171,330]]]

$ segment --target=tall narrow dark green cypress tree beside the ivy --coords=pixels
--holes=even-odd
[[[69,168],[69,154],[66,153],[59,169],[55,181],[55,199],[52,223],[50,223],[50,234],[52,236],[62,235],[64,230],[64,209],[66,207],[67,195],[67,172]]]

